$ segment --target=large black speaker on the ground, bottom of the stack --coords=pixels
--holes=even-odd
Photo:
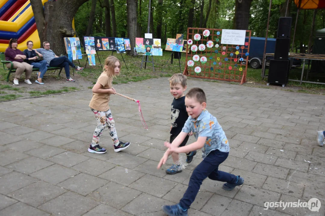
[[[290,70],[290,60],[270,60],[268,70],[268,83],[285,85],[288,83]]]

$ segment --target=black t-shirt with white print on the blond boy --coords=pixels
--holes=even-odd
[[[180,98],[174,98],[171,109],[171,119],[172,119],[172,130],[170,131],[173,135],[178,135],[188,119],[188,114],[185,107],[185,96]]]

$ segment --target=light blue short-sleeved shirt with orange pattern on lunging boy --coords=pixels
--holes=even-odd
[[[207,137],[202,148],[202,158],[204,159],[211,151],[218,149],[220,152],[229,152],[229,143],[225,132],[218,123],[217,118],[211,115],[208,110],[204,109],[195,120],[188,117],[182,132],[193,132],[196,139],[198,137]]]

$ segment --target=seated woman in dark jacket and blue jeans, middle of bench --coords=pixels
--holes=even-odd
[[[38,60],[38,56],[36,55],[36,53],[42,57],[42,54],[32,50],[33,48],[33,41],[29,40],[27,41],[27,49],[24,50],[24,54],[26,55],[26,62],[33,65],[34,68],[39,68],[39,72],[37,72],[37,80],[35,80],[35,83],[41,84],[43,85],[44,83],[42,83],[42,78],[45,74],[45,72],[47,71],[47,63],[45,60]]]

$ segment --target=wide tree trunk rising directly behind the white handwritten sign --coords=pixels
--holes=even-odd
[[[236,0],[233,29],[247,30],[252,0]]]

